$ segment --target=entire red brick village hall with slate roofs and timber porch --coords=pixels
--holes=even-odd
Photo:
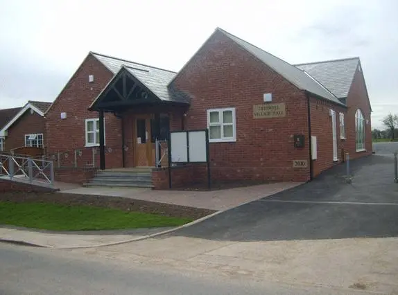
[[[103,141],[105,168],[153,167],[156,139],[208,128],[214,180],[308,181],[371,154],[370,112],[358,57],[292,65],[217,28],[178,73],[89,53],[46,112],[44,141],[79,154]]]

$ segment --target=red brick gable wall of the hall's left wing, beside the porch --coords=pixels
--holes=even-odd
[[[89,83],[89,75],[94,75],[94,82]],[[87,108],[112,76],[96,57],[87,56],[46,114],[49,135],[44,141],[49,154],[85,147],[85,119],[98,118],[96,111]],[[64,120],[60,118],[62,112],[67,113]],[[121,167],[121,120],[113,114],[105,114],[105,145],[106,167]]]

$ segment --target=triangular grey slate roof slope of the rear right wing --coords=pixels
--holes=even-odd
[[[295,66],[309,73],[338,98],[346,98],[358,64],[359,57],[352,57],[342,60],[295,64]]]

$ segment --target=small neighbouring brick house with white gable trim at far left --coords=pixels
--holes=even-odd
[[[44,148],[44,113],[51,102],[28,101],[24,107],[0,110],[0,151],[17,147]]]

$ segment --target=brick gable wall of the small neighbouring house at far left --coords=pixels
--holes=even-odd
[[[46,126],[44,117],[40,116],[35,111],[33,111],[33,113],[31,113],[31,110],[26,111],[25,114],[8,129],[5,150],[9,151],[16,147],[23,147],[25,145],[26,134],[43,134],[45,141]]]

